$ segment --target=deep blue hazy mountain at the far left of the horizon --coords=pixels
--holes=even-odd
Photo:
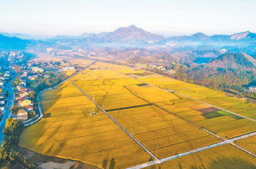
[[[29,40],[20,40],[20,38],[0,34],[0,50],[24,50],[29,44],[31,44]]]

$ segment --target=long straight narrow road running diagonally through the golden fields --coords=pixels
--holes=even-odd
[[[72,82],[72,81],[71,81],[71,82]],[[72,82],[72,84],[74,84],[74,82]],[[74,85],[76,85],[76,84],[74,84]],[[134,136],[131,135],[131,133],[129,133],[129,131],[127,131],[121,124],[119,124],[119,122],[117,122],[117,121],[116,121],[113,117],[111,117],[111,115],[109,115],[103,108],[101,108],[97,103],[95,103],[95,101],[93,101],[92,98],[90,98],[82,89],[80,89],[80,87],[78,87],[77,85],[76,85],[76,87],[77,87],[81,92],[83,92],[83,94],[84,94],[85,96],[87,96],[87,98],[89,98],[90,100],[92,100],[92,102],[93,102],[97,107],[99,107],[100,110],[102,110],[102,112],[104,112],[104,114],[108,115],[108,117],[109,117],[113,122],[115,122],[115,124],[117,124],[122,130],[124,130],[125,133],[127,133],[127,135],[129,135],[129,136],[132,138],[132,140],[134,140],[136,143],[138,143],[138,145],[140,145],[140,147],[142,147],[142,149],[144,149],[148,154],[150,154],[150,156],[152,156],[152,158],[154,158],[156,161],[159,161],[159,159],[158,159],[152,152],[150,152],[150,151],[147,149],[147,147],[145,147],[141,142],[139,142]]]

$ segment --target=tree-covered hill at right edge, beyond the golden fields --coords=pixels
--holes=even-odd
[[[215,89],[237,91],[256,98],[253,92],[246,92],[248,86],[256,85],[255,59],[246,54],[223,54],[212,59],[208,64],[191,66],[178,77],[188,77],[191,82],[198,82]]]

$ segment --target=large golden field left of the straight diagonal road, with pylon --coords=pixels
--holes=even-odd
[[[51,117],[26,128],[20,147],[98,166],[113,158],[116,168],[145,163],[150,158],[71,82],[44,92],[41,99],[44,112]],[[90,115],[94,111],[99,114]]]

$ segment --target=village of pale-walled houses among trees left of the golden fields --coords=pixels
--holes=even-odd
[[[26,54],[23,52],[1,52],[0,58],[4,61],[1,64],[6,68],[6,70],[2,70],[0,74],[0,121],[6,110],[8,84],[12,85],[15,98],[13,99],[10,117],[20,119],[26,124],[36,119],[39,114],[35,98],[38,91],[33,89],[36,88],[33,84],[40,84],[38,82],[40,78],[51,78],[52,74],[50,72],[52,71],[45,70],[56,70],[54,71],[56,73],[75,70],[72,66],[57,69],[56,67],[61,64],[60,62],[47,63],[28,61]],[[58,79],[58,82],[59,81],[60,79]]]

